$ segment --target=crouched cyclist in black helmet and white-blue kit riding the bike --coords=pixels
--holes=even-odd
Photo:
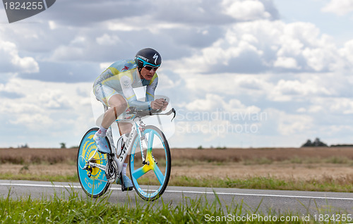
[[[110,153],[105,140],[107,129],[115,120],[118,120],[120,139],[118,140],[118,153],[124,147],[132,124],[128,123],[126,110],[134,106],[140,110],[151,111],[152,109],[167,108],[168,102],[164,99],[155,98],[157,87],[157,69],[162,63],[160,54],[155,49],[145,48],[137,52],[134,60],[123,60],[112,63],[109,68],[97,77],[93,85],[95,97],[109,109],[105,111],[100,129],[95,133],[93,139],[97,143],[98,151]],[[145,101],[138,101],[133,88],[146,86]],[[124,162],[121,171],[124,187],[132,189],[131,180],[126,176],[127,161]],[[120,184],[120,180],[116,181]]]

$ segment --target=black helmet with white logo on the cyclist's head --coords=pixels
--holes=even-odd
[[[137,52],[135,56],[135,62],[140,71],[145,66],[151,66],[153,68],[160,67],[162,63],[162,57],[155,49],[145,48]]]

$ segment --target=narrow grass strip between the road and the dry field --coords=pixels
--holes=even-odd
[[[2,180],[37,180],[50,182],[78,182],[77,174],[74,175],[32,175],[28,173],[0,173]],[[352,177],[334,180],[327,177],[320,180],[282,180],[273,177],[249,177],[244,179],[230,178],[190,178],[177,176],[169,179],[169,186],[184,187],[225,187],[243,189],[282,189],[318,192],[353,192]],[[140,185],[157,185],[148,178],[140,178]]]

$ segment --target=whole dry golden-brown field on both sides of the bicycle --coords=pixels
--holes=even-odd
[[[77,149],[0,149],[1,173],[76,175]],[[353,180],[353,148],[172,149],[171,178]]]

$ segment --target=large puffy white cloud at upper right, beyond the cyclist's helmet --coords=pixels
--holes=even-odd
[[[311,23],[256,20],[227,27],[224,37],[180,63],[193,73],[265,73],[275,68],[325,72],[352,67],[341,55],[351,58],[350,42],[345,48],[338,49],[332,37]]]

